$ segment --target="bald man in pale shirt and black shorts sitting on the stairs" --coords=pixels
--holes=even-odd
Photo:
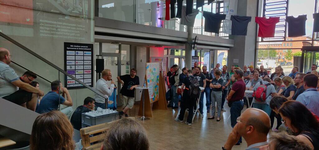
[[[38,96],[43,96],[44,93],[19,79],[9,66],[11,57],[8,49],[0,48],[0,98],[35,111]]]

